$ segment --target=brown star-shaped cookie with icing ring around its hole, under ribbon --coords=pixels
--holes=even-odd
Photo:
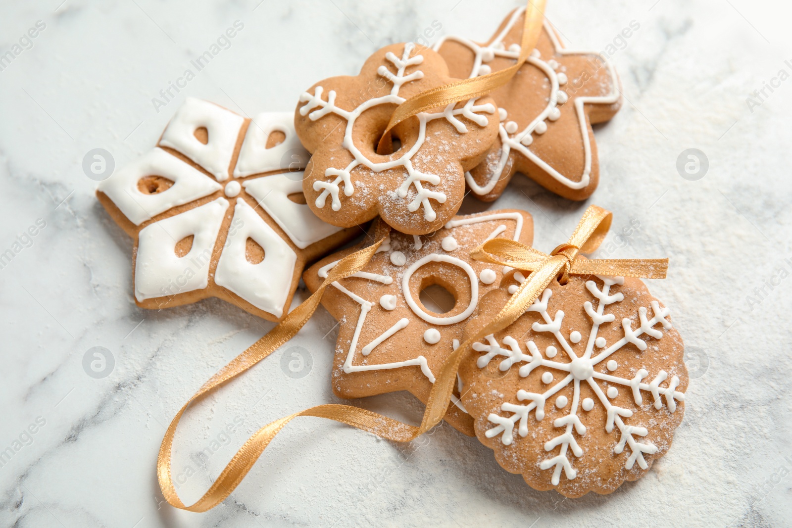
[[[502,277],[502,267],[473,260],[470,252],[494,237],[530,245],[533,222],[524,211],[488,211],[457,216],[425,236],[389,231],[378,223],[360,247],[309,268],[305,283],[314,291],[338,260],[389,232],[363,271],[333,283],[322,298],[341,321],[333,391],[351,398],[408,390],[426,402],[435,375],[463,340],[478,300]],[[459,394],[452,401],[446,420],[472,435]]]

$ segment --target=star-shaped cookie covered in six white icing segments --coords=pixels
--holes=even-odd
[[[310,211],[300,170],[306,161],[291,112],[251,121],[188,98],[159,146],[97,189],[135,239],[138,306],[218,297],[280,320],[306,262],[358,232]]]

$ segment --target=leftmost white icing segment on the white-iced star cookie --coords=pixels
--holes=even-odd
[[[140,192],[138,182],[148,176],[167,178],[173,181],[173,185],[157,194],[145,194]],[[130,222],[139,226],[172,207],[209,196],[221,187],[176,156],[154,148],[143,154],[142,158],[119,169],[112,177],[101,181],[98,189],[116,204]]]

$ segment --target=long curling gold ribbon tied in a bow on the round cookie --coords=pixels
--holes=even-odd
[[[487,241],[474,250],[472,255],[478,260],[511,266],[512,268],[531,272],[531,275],[520,285],[516,293],[512,295],[500,313],[493,317],[492,321],[489,321],[474,336],[470,336],[448,356],[440,374],[436,377],[435,384],[432,386],[432,392],[429,394],[426,411],[420,426],[403,424],[387,416],[350,405],[317,405],[301,412],[295,412],[280,418],[280,420],[275,420],[265,427],[261,427],[242,445],[237,454],[234,455],[234,458],[231,458],[225,469],[223,469],[223,473],[220,473],[208,492],[204,493],[204,496],[196,503],[191,506],[185,506],[173,487],[170,475],[170,452],[173,447],[173,436],[176,433],[176,427],[179,420],[181,420],[181,416],[196,398],[216,389],[238,374],[242,374],[242,372],[253,367],[261,359],[270,355],[280,345],[286,343],[292,336],[295,336],[318,307],[326,287],[334,281],[344,279],[362,270],[367,262],[371,260],[371,257],[374,256],[384,239],[380,239],[374,245],[352,253],[352,255],[345,256],[335,268],[330,270],[327,278],[314,294],[295,310],[291,311],[280,325],[277,325],[271,332],[261,337],[250,348],[212,376],[177,412],[177,415],[168,426],[165,438],[162,439],[162,446],[157,459],[157,475],[162,495],[171,506],[182,510],[210,510],[225,500],[230,492],[234,491],[234,488],[242,482],[242,479],[245,478],[270,441],[275,438],[286,424],[297,416],[316,416],[335,420],[395,442],[409,442],[417,438],[417,436],[440,423],[440,420],[443,420],[456,383],[459,363],[462,362],[472,345],[484,336],[505,329],[516,321],[554,279],[560,277],[563,280],[568,275],[600,273],[653,279],[665,277],[668,259],[586,260],[577,258],[578,253],[592,253],[599,247],[607,234],[608,228],[611,226],[611,218],[611,213],[601,207],[596,207],[595,205],[588,207],[577,226],[577,230],[575,230],[572,237],[569,237],[569,241],[559,245],[550,255],[531,249],[519,242],[498,238]]]

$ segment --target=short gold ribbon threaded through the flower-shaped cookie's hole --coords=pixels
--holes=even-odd
[[[509,82],[536,47],[539,34],[542,32],[545,3],[546,0],[528,0],[525,8],[523,38],[520,42],[520,56],[513,66],[509,66],[505,70],[482,75],[481,77],[436,86],[413,95],[407,101],[399,104],[393,116],[390,116],[388,126],[377,144],[377,153],[390,154],[390,131],[398,123],[417,115],[419,112],[426,112],[432,108],[445,107],[458,101],[467,101],[475,97],[485,96],[487,93],[492,92],[493,89],[500,88]]]

